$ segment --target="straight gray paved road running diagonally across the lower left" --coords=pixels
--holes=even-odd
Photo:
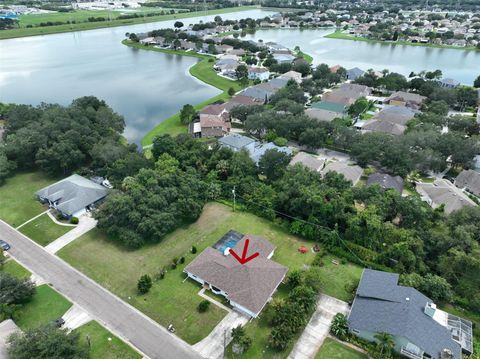
[[[12,257],[151,359],[200,358],[180,338],[2,221],[0,239],[10,243]]]

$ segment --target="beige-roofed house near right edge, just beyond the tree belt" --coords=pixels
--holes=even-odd
[[[416,190],[422,200],[432,208],[444,205],[445,213],[452,213],[465,206],[476,206],[462,190],[455,187],[447,180],[436,180],[433,183],[417,183]]]

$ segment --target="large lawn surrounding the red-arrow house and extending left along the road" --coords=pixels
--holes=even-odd
[[[197,295],[200,286],[183,282],[182,270],[195,255],[230,229],[267,238],[277,246],[273,259],[290,268],[303,268],[313,259],[313,253],[297,251],[300,245],[308,246],[307,242],[288,235],[269,221],[249,213],[234,213],[229,207],[216,203],[208,204],[196,223],[173,232],[157,245],[126,251],[109,242],[100,231],[93,230],[62,249],[59,255],[160,324],[173,323],[180,337],[195,343],[208,335],[226,313],[210,306],[207,313],[199,314],[196,307],[202,300]],[[198,249],[195,255],[189,252],[192,245]],[[136,284],[141,275],[153,276],[174,257],[182,256],[185,256],[184,265],[169,269],[165,279],[155,282],[149,294],[137,295]]]

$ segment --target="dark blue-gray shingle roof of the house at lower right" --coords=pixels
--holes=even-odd
[[[432,300],[414,288],[399,286],[398,278],[398,274],[364,269],[348,317],[350,329],[407,338],[434,359],[444,349],[461,359],[461,346],[450,331],[424,312]]]

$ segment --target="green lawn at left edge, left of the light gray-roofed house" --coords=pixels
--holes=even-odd
[[[7,178],[0,186],[0,219],[17,227],[42,213],[45,208],[35,192],[55,182],[41,172],[22,172]]]

